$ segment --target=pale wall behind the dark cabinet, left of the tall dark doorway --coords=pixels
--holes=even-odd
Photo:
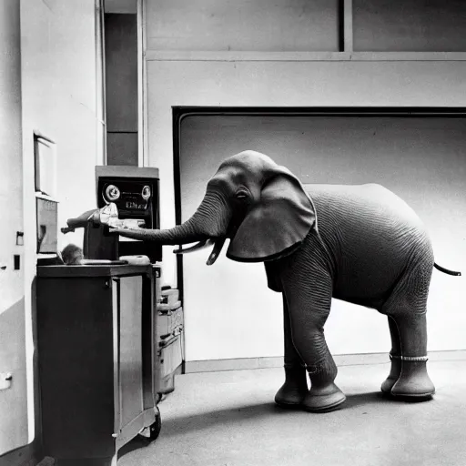
[[[35,432],[35,184],[33,133],[56,141],[59,227],[96,206],[94,167],[103,163],[101,94],[97,86],[94,0],[21,2],[25,206],[25,316],[29,440]],[[59,234],[59,248],[82,244],[82,232]]]

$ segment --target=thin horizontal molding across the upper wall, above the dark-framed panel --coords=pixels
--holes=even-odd
[[[466,61],[466,52],[262,52],[146,50],[147,61],[195,62],[444,62]]]

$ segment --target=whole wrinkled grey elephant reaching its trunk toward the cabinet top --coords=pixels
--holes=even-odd
[[[268,288],[282,293],[285,381],[275,402],[313,412],[346,400],[324,336],[331,299],[377,309],[388,317],[390,397],[430,400],[426,303],[435,266],[431,240],[416,213],[378,184],[308,185],[253,150],[226,158],[208,181],[191,218],[168,229],[110,228],[127,238],[213,246],[227,238],[227,257],[263,262]],[[310,389],[308,389],[307,373]]]

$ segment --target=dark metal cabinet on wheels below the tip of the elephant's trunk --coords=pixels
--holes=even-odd
[[[37,268],[44,452],[58,465],[116,465],[144,431],[157,438],[151,266]]]

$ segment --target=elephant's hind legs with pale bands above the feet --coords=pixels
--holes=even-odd
[[[420,263],[400,280],[381,310],[389,316],[392,341],[390,375],[381,390],[390,390],[392,396],[427,400],[435,392],[427,372],[426,306],[430,281],[431,268]]]

